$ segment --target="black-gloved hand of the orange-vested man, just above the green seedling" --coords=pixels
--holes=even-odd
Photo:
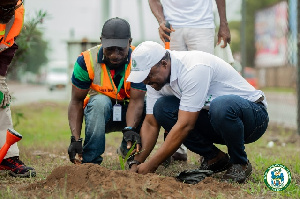
[[[132,146],[132,143],[136,142],[136,152],[140,152],[141,150],[141,136],[135,132],[136,129],[133,127],[125,127],[123,132],[124,140],[127,142],[127,149],[130,149]]]

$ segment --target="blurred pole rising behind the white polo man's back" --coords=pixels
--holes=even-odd
[[[246,67],[246,0],[242,0],[242,22],[241,22],[241,65],[242,76],[244,77],[244,68]]]

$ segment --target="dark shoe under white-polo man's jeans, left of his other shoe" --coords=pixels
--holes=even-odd
[[[223,152],[221,152],[221,154],[224,154]],[[229,156],[228,154],[224,154],[223,157],[221,157],[219,160],[217,160],[216,162],[212,163],[212,164],[208,164],[208,160],[206,160],[205,158],[203,158],[203,162],[200,166],[200,170],[211,170],[214,173],[218,173],[221,171],[225,171],[226,169],[228,169],[231,166],[231,163],[229,162]]]

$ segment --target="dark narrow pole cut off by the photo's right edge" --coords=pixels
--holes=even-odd
[[[300,3],[296,1],[297,5],[297,24],[298,24],[298,32],[297,32],[297,100],[298,100],[298,107],[297,107],[297,126],[298,126],[298,134],[300,135]]]

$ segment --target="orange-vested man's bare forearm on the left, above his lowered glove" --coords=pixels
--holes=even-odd
[[[83,101],[89,89],[81,90],[72,85],[71,101],[68,108],[68,119],[71,133],[75,140],[80,138],[83,121]]]

